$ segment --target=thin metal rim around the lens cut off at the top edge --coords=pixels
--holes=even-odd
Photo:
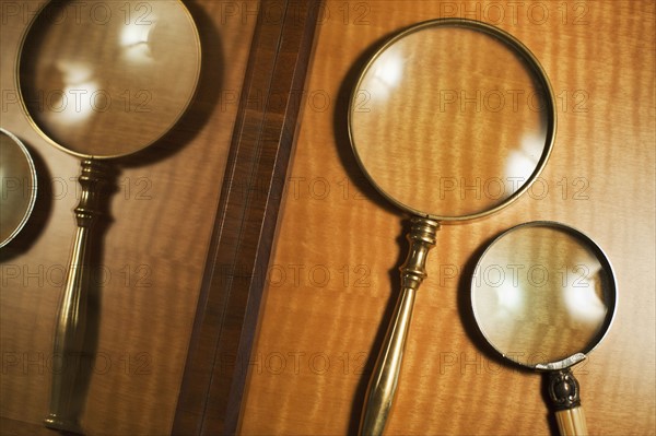
[[[166,133],[168,133],[175,127],[175,125],[177,125],[177,122],[180,120],[180,118],[183,118],[183,116],[185,115],[185,113],[189,108],[189,105],[191,104],[191,102],[196,97],[196,93],[198,91],[198,82],[200,80],[200,68],[201,68],[201,60],[202,60],[202,50],[201,50],[201,44],[200,44],[200,35],[198,33],[198,27],[196,26],[196,22],[194,21],[194,16],[191,15],[191,12],[189,12],[189,9],[187,9],[187,7],[185,5],[185,3],[181,0],[169,0],[169,1],[175,1],[181,8],[183,13],[187,16],[187,20],[189,21],[190,28],[194,32],[194,39],[196,40],[196,47],[195,48],[198,50],[198,59],[196,61],[196,79],[194,81],[194,89],[191,90],[191,96],[181,106],[181,108],[179,110],[179,114],[177,115],[177,117],[175,118],[175,120],[171,123],[171,126],[168,127],[168,129],[164,130],[156,138],[153,138],[150,142],[147,142],[144,145],[140,146],[139,149],[131,150],[131,151],[129,151],[127,153],[118,153],[118,154],[110,154],[110,155],[92,155],[92,154],[80,153],[80,152],[73,151],[73,150],[67,148],[66,145],[62,145],[59,142],[55,141],[45,131],[42,130],[42,128],[39,127],[38,122],[36,122],[36,120],[32,117],[32,114],[30,114],[30,109],[27,109],[27,106],[25,105],[25,99],[23,97],[23,92],[22,92],[22,86],[21,86],[21,60],[22,60],[22,57],[23,57],[23,51],[24,51],[24,48],[25,48],[25,43],[26,43],[27,38],[30,37],[30,33],[31,33],[32,28],[34,27],[34,24],[38,21],[38,19],[40,17],[42,13],[48,7],[50,7],[51,4],[58,3],[59,0],[49,0],[49,1],[45,2],[44,4],[42,4],[42,7],[39,8],[38,12],[33,15],[30,24],[27,25],[27,28],[23,33],[23,36],[21,38],[21,43],[19,44],[19,54],[17,54],[17,57],[16,57],[15,74],[14,74],[15,75],[15,86],[16,86],[16,91],[19,93],[19,103],[21,105],[21,108],[23,109],[23,114],[27,117],[27,121],[30,122],[30,126],[32,126],[32,128],[34,130],[36,130],[38,132],[38,134],[43,139],[45,139],[49,144],[54,145],[55,148],[57,148],[57,149],[59,149],[59,150],[61,150],[61,151],[63,151],[63,152],[66,152],[68,154],[71,154],[73,156],[78,156],[78,157],[82,157],[82,158],[93,158],[93,160],[109,160],[109,158],[128,156],[128,155],[134,154],[137,152],[140,152],[143,149],[149,148],[153,143],[155,143],[159,140],[161,140],[164,135],[166,135]]]

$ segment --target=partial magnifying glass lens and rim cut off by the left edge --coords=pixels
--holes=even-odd
[[[36,201],[36,170],[21,140],[0,128],[0,248],[23,228]]]

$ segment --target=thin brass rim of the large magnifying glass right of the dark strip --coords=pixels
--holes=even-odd
[[[400,202],[399,200],[395,199],[393,196],[387,193],[383,188],[380,188],[380,186],[376,182],[376,180],[374,180],[372,175],[367,172],[366,166],[360,158],[360,154],[358,153],[358,146],[356,146],[354,138],[353,138],[353,129],[354,129],[353,128],[353,110],[356,105],[358,91],[360,90],[360,85],[361,85],[364,76],[368,72],[370,68],[378,60],[378,58],[383,55],[383,52],[385,52],[389,47],[391,47],[394,44],[396,44],[400,39],[405,38],[406,36],[417,33],[419,31],[425,30],[426,27],[445,27],[445,26],[464,27],[464,28],[469,28],[469,30],[484,33],[487,35],[490,35],[490,36],[496,38],[502,44],[504,44],[506,47],[514,50],[517,55],[520,55],[522,59],[524,59],[524,61],[527,63],[527,69],[529,69],[528,67],[530,67],[531,76],[535,80],[537,80],[539,85],[544,90],[544,110],[546,110],[546,114],[548,117],[546,142],[544,142],[544,149],[542,151],[542,155],[540,156],[540,160],[538,161],[538,164],[537,164],[536,168],[534,169],[532,174],[530,175],[530,177],[519,187],[519,189],[517,189],[515,192],[513,192],[504,201],[500,202],[499,204],[496,204],[490,209],[483,210],[481,212],[457,215],[457,216],[436,215],[436,214],[431,214],[426,211],[420,211],[418,209],[414,209],[408,204]],[[502,31],[501,28],[497,28],[493,25],[490,25],[490,24],[487,24],[487,23],[483,23],[480,21],[476,21],[476,20],[435,19],[435,20],[424,21],[419,24],[414,24],[414,25],[406,28],[405,31],[401,31],[400,33],[396,34],[394,37],[391,37],[389,40],[387,40],[378,50],[376,50],[376,52],[367,61],[364,69],[360,73],[360,76],[358,78],[358,83],[355,84],[355,86],[353,87],[353,91],[351,93],[351,97],[349,101],[349,110],[348,110],[348,129],[349,129],[349,140],[351,142],[351,149],[353,151],[353,154],[355,156],[355,161],[358,162],[358,165],[364,173],[367,180],[376,188],[376,190],[378,192],[380,192],[383,195],[383,197],[385,197],[387,200],[389,200],[393,204],[397,205],[398,208],[400,208],[401,210],[403,210],[406,212],[412,213],[413,215],[424,216],[424,217],[427,217],[431,220],[437,220],[441,222],[448,223],[448,222],[472,221],[472,220],[478,220],[480,217],[488,216],[495,212],[499,212],[500,210],[506,208],[508,204],[513,203],[524,192],[526,192],[528,190],[530,185],[541,174],[542,169],[547,165],[547,161],[549,160],[551,150],[553,149],[553,143],[555,141],[555,130],[557,130],[555,96],[553,94],[553,89],[551,86],[551,82],[549,81],[549,78],[547,76],[547,72],[544,71],[544,69],[542,68],[542,66],[540,64],[538,59],[519,39],[515,38],[509,33]]]

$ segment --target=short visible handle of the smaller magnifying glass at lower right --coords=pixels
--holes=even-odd
[[[578,381],[570,368],[549,374],[549,397],[562,436],[588,434],[578,391]]]

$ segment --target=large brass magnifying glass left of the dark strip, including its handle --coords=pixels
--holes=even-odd
[[[17,89],[32,127],[54,146],[82,158],[78,231],[55,333],[55,355],[82,351],[91,231],[104,161],[138,152],[178,121],[196,92],[201,49],[179,0],[50,1],[22,40]],[[70,365],[69,365],[70,366]],[[75,372],[55,372],[46,425],[77,431]]]

